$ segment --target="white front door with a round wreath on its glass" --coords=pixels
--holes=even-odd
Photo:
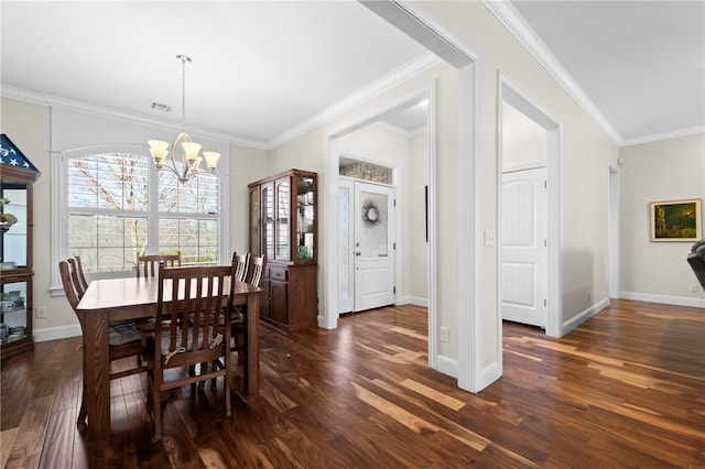
[[[394,189],[355,183],[355,312],[394,303]]]

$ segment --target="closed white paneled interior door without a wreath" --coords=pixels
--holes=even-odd
[[[545,328],[546,168],[502,175],[502,319]]]

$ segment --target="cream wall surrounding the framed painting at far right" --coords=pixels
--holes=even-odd
[[[620,173],[622,298],[705,307],[685,258],[691,242],[651,242],[649,204],[705,199],[705,133],[625,146]],[[701,214],[701,217],[703,214]]]

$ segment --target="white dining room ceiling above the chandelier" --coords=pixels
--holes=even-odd
[[[267,144],[429,54],[354,1],[2,1],[2,85]],[[172,107],[171,114],[151,108]]]

